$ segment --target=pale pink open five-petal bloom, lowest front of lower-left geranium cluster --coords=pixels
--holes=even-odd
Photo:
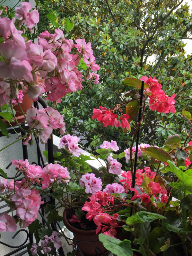
[[[38,208],[36,205],[32,205],[32,201],[30,199],[24,199],[23,201],[24,207],[17,208],[17,215],[22,220],[28,220],[34,217],[37,217]]]

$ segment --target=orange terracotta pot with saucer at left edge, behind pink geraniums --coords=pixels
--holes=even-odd
[[[23,97],[23,102],[20,104],[22,110],[24,113],[27,112],[28,109],[30,109],[32,107],[32,104],[33,104],[33,101],[29,98],[29,95],[28,94],[24,94],[24,97]],[[21,110],[20,110],[20,107],[18,105],[14,106],[13,109],[16,111],[16,119],[19,123],[22,123],[25,121],[25,117],[24,115],[21,113]],[[7,126],[9,127],[9,122],[7,122],[7,120],[5,119],[2,119],[6,124]],[[14,120],[14,118],[13,118]],[[11,125],[15,125],[16,122],[12,122]]]

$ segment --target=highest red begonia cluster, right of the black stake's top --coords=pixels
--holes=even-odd
[[[140,80],[144,80],[146,84],[150,84],[149,91],[152,92],[152,94],[149,96],[149,104],[151,110],[156,110],[160,113],[176,113],[175,110],[175,96],[176,94],[173,93],[170,97],[166,95],[163,90],[161,90],[161,84],[158,83],[158,80],[151,76],[148,78],[147,76],[142,76]],[[154,103],[154,104],[153,104]]]

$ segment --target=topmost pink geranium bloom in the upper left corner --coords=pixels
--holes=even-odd
[[[22,20],[22,23],[26,23],[28,28],[33,28],[36,23],[39,22],[39,13],[37,10],[31,10],[31,4],[28,2],[22,2],[21,8],[15,8],[15,16]]]

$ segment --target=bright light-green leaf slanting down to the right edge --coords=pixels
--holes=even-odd
[[[169,166],[165,168],[165,170],[168,170],[170,172],[175,173],[175,175],[181,180],[185,185],[192,187],[192,175],[188,172],[181,171],[175,163],[168,160]]]

